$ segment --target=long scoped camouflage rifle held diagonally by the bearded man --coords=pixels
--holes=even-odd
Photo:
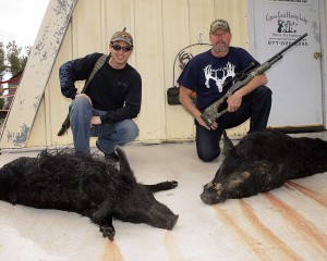
[[[283,48],[281,51],[279,51],[277,54],[275,54],[272,58],[267,60],[264,64],[257,66],[253,71],[249,73],[241,73],[241,76],[234,76],[231,80],[228,80],[228,83],[223,83],[222,88],[229,84],[232,84],[232,86],[229,88],[229,90],[217,101],[215,101],[211,105],[207,107],[204,112],[201,115],[201,119],[207,124],[207,126],[211,126],[214,122],[218,117],[220,117],[222,114],[227,112],[227,99],[234,94],[238,89],[246,85],[251,79],[253,79],[255,76],[258,76],[266,72],[268,69],[271,67],[274,63],[282,59],[282,53],[289,50],[291,47],[296,45],[299,41],[301,41],[304,37],[306,37],[307,34],[300,36],[296,40],[294,40],[292,44],[290,44],[288,47]],[[251,64],[245,69],[244,71],[249,71],[249,67],[251,67]]]

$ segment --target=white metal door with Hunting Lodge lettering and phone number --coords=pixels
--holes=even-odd
[[[265,62],[307,36],[266,74],[272,90],[271,127],[323,127],[322,40],[318,0],[252,0],[250,50]]]

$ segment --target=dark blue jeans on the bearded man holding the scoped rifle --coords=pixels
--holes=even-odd
[[[220,154],[219,141],[223,129],[239,126],[249,119],[251,119],[249,133],[266,129],[270,108],[271,90],[266,86],[259,86],[243,97],[242,104],[238,111],[225,113],[217,120],[217,129],[208,130],[195,122],[195,141],[198,158],[205,162],[216,159]]]

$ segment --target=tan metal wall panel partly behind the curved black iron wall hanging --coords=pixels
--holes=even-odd
[[[173,66],[175,55],[192,41],[189,34],[187,2],[187,0],[162,1],[165,86],[160,95],[165,97],[166,138],[168,140],[194,138],[193,117],[181,105],[169,105],[166,97],[167,89],[177,84],[175,80],[181,73],[178,63]]]

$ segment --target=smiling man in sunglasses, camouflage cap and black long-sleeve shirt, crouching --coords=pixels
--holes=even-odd
[[[132,119],[141,110],[142,79],[128,63],[133,47],[132,36],[123,29],[111,37],[109,55],[95,52],[61,65],[61,92],[72,99],[69,115],[76,151],[90,154],[89,137],[97,137],[106,159],[117,161],[114,147],[137,137]],[[76,80],[86,80],[83,94]]]

